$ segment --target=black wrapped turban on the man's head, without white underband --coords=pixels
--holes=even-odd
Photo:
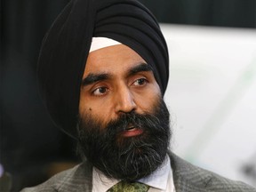
[[[164,95],[169,59],[155,17],[137,0],[71,0],[44,37],[39,91],[54,123],[76,138],[80,84],[92,36],[112,38],[153,68]]]

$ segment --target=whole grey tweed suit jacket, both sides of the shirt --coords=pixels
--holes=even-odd
[[[176,192],[256,192],[243,182],[228,180],[169,154]],[[35,188],[21,192],[90,192],[92,191],[92,165],[84,162],[60,172]]]

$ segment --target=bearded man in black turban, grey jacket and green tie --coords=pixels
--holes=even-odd
[[[137,0],[71,1],[44,38],[40,91],[83,163],[24,191],[256,191],[168,150],[168,50]]]

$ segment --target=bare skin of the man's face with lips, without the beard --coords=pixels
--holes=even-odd
[[[132,110],[151,112],[161,96],[156,79],[140,55],[119,44],[91,52],[81,87],[80,115],[91,114],[103,125]],[[132,136],[136,130],[122,135]]]

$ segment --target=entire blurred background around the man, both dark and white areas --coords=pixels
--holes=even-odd
[[[156,15],[169,46],[164,99],[172,150],[256,186],[256,0],[140,1]],[[52,124],[36,89],[40,44],[66,4],[0,3],[1,192],[10,174],[12,191],[19,191],[79,162],[75,140]]]

